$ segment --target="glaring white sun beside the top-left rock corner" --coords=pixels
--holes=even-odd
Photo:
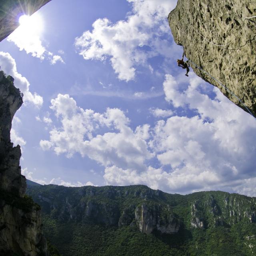
[[[41,34],[43,30],[43,21],[39,14],[35,13],[31,16],[22,15],[19,18],[19,30],[24,34]]]

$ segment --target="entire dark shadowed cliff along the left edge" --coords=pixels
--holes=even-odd
[[[10,141],[12,118],[21,105],[14,79],[0,71],[0,255],[48,255],[40,207],[25,195],[20,146]]]

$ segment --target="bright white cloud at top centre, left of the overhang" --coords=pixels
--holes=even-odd
[[[161,39],[168,31],[167,16],[176,6],[176,0],[128,0],[132,4],[132,14],[127,20],[112,23],[107,18],[92,24],[92,32],[87,30],[76,38],[75,45],[85,60],[106,60],[110,62],[120,80],[133,80],[136,66],[147,64],[148,58],[166,55],[170,42]],[[144,47],[148,47],[148,51]],[[168,51],[167,48],[169,47]]]

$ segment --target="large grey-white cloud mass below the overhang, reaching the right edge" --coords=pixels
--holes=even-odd
[[[176,108],[196,111],[192,117],[159,120],[150,130],[148,145],[160,168],[147,170],[108,166],[104,178],[110,185],[146,184],[172,193],[224,190],[256,196],[254,118],[230,102],[216,88],[214,100],[204,94],[206,83],[191,74],[166,75],[166,100]],[[191,112],[190,112],[191,113]]]

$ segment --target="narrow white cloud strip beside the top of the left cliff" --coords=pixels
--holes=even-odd
[[[0,52],[1,69],[8,75],[14,78],[14,85],[24,94],[24,102],[31,102],[40,107],[43,104],[43,98],[38,94],[32,94],[29,90],[30,83],[28,80],[18,73],[16,62],[8,52]]]

